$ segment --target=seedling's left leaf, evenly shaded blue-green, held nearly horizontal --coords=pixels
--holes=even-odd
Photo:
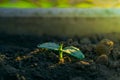
[[[37,47],[51,49],[51,50],[58,50],[60,46],[56,43],[48,42],[48,43],[38,44]]]

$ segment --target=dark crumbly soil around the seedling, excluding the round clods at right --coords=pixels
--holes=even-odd
[[[0,34],[0,80],[120,80],[119,34],[57,37]],[[114,42],[109,63],[96,63],[96,45],[102,39]],[[64,64],[58,63],[56,51],[39,49],[44,42],[76,46],[86,56],[75,59],[65,54]]]

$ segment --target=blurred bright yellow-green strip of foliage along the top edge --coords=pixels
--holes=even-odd
[[[0,0],[0,8],[119,8],[120,0]]]

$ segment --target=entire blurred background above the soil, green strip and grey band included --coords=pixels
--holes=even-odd
[[[0,0],[0,33],[81,36],[112,32],[120,33],[120,0]]]

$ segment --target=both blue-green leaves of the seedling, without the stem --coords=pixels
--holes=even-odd
[[[45,49],[51,49],[51,50],[59,50],[59,45],[56,43],[48,42],[37,45],[38,48],[45,48]],[[65,47],[63,52],[70,54],[71,56],[74,56],[78,59],[85,58],[84,54],[79,50],[79,48],[76,48],[74,46]]]

